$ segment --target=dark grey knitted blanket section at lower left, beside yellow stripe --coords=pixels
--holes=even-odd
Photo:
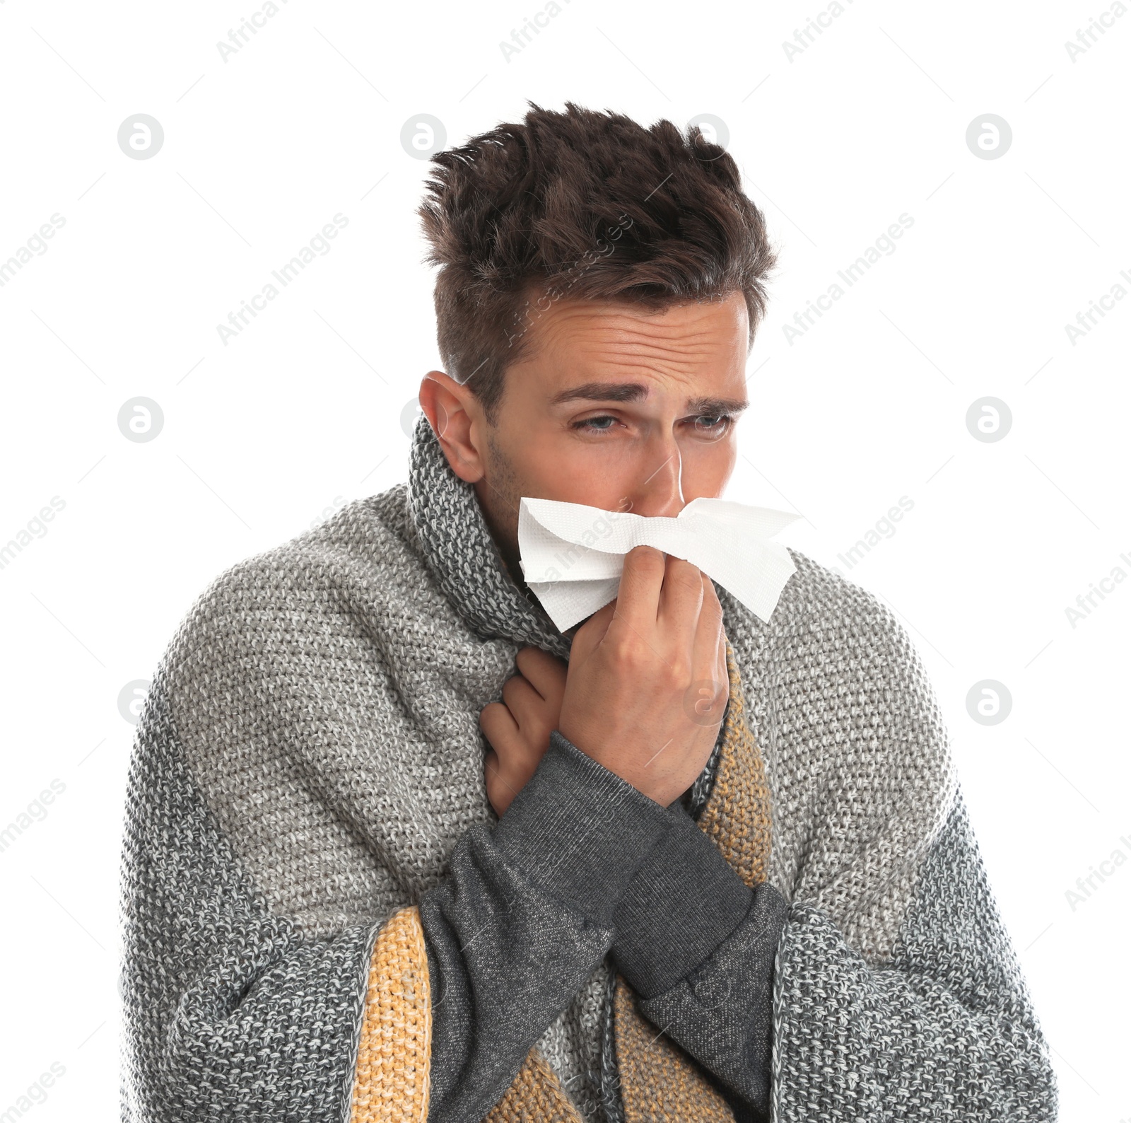
[[[307,938],[273,912],[184,766],[163,660],[123,839],[123,1123],[342,1123],[375,925]]]

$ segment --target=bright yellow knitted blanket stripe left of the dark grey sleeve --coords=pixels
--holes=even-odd
[[[351,1123],[428,1118],[432,994],[420,912],[402,909],[373,945]]]

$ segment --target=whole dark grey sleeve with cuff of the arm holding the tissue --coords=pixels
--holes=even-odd
[[[613,911],[671,814],[554,732],[499,823],[421,900],[431,1123],[478,1123],[604,959]]]

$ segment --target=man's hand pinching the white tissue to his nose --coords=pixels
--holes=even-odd
[[[664,807],[703,770],[729,696],[723,609],[690,562],[638,546],[578,628],[558,728]]]

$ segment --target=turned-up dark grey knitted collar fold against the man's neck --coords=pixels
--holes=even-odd
[[[475,489],[451,470],[423,413],[412,440],[409,518],[424,560],[448,600],[483,638],[533,644],[568,659],[570,641],[507,572]]]

